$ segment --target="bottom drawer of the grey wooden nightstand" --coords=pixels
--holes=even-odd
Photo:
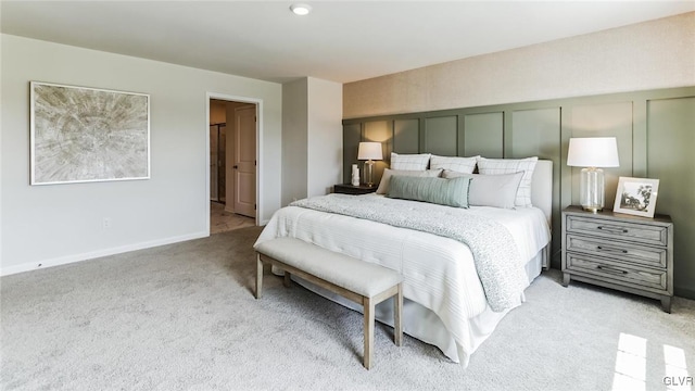
[[[667,272],[567,253],[567,268],[636,288],[667,289]]]

